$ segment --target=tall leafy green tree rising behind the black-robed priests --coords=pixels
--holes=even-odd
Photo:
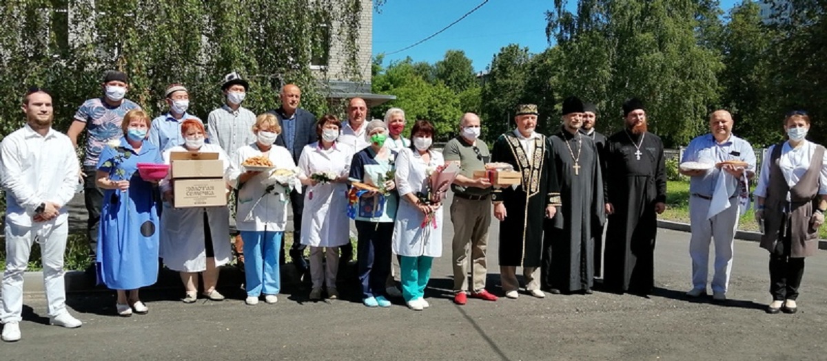
[[[705,130],[699,120],[717,100],[723,68],[719,54],[699,44],[708,5],[584,0],[572,14],[565,0],[556,0],[547,35],[562,48],[561,92],[602,104],[605,120],[619,114],[625,99],[640,97],[650,129],[667,146],[687,143]]]

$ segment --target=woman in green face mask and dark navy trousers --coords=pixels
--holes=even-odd
[[[353,156],[350,179],[372,185],[379,191],[352,187],[348,195],[348,213],[356,220],[359,234],[356,260],[359,262],[362,302],[367,307],[390,307],[390,301],[385,298],[385,280],[390,274],[390,242],[399,204],[394,191],[397,153],[384,147],[388,138],[385,122],[371,120],[366,125],[365,136],[370,146]]]

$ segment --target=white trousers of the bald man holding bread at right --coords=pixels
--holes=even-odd
[[[715,275],[712,278],[712,292],[726,293],[729,287],[729,275],[732,271],[733,238],[738,229],[738,199],[729,199],[735,203],[715,217],[707,219],[710,199],[691,196],[689,214],[692,236],[689,240],[689,256],[692,258],[692,287],[706,289],[710,263],[710,241],[715,240]]]

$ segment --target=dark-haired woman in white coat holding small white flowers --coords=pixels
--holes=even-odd
[[[336,290],[339,246],[350,241],[347,174],[353,151],[337,145],[341,126],[336,116],[324,115],[316,123],[318,142],[304,146],[299,157],[299,178],[302,184],[308,185],[304,194],[301,242],[310,246],[310,278],[313,279],[310,299],[314,301],[322,299],[323,284],[327,284],[328,298],[339,298]]]

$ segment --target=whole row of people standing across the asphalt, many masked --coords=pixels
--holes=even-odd
[[[366,307],[390,307],[402,297],[413,310],[429,307],[424,291],[434,258],[442,256],[442,200],[429,197],[430,177],[456,162],[449,209],[453,223],[454,298],[496,301],[486,290],[488,230],[500,221],[500,282],[506,298],[523,289],[545,293],[592,293],[595,278],[614,293],[653,291],[657,214],[666,209],[667,177],[663,144],[648,132],[641,101],[624,102],[624,127],[605,137],[595,131],[596,106],[576,97],[562,103],[559,129],[536,132],[536,105],[519,105],[514,131],[489,149],[480,140],[481,121],[466,113],[459,133],[442,152],[433,148],[433,124],[414,122],[410,137],[404,110],[384,120],[366,120],[367,104],[353,98],[347,120],[301,109],[301,91],[289,84],[277,110],[257,115],[241,103],[250,84],[236,73],[222,83],[226,102],[208,124],[189,109],[180,84],[165,91],[169,112],[151,120],[128,101],[127,76],[104,75],[104,96],[81,105],[66,135],[52,129],[50,94],[32,88],[23,99],[26,125],[0,147],[0,176],[7,191],[6,271],[2,281],[2,340],[21,338],[22,274],[33,241],[41,244],[51,323],[79,327],[65,308],[63,253],[68,234],[65,205],[80,187],[88,209],[93,272],[100,284],[117,290],[120,316],[149,311],[138,290],[154,284],[159,260],[180,273],[183,302],[224,299],[216,290],[218,267],[232,259],[230,224],[240,234],[232,244],[246,274],[246,304],[261,296],[275,303],[288,204],[294,214],[289,254],[302,273],[309,270],[309,298],[337,292],[341,260],[353,256],[351,219],[356,229],[356,262]],[[715,239],[713,297],[725,299],[732,265],[732,239],[755,174],[753,149],[731,131],[725,110],[710,115],[710,134],[694,139],[686,162],[720,166],[681,168],[691,177],[693,288],[706,293],[711,239]],[[810,119],[787,115],[789,140],[764,158],[756,196],[756,218],[764,226],[762,247],[770,251],[773,302],[767,312],[796,312],[803,257],[817,249],[817,230],[827,209],[827,156],[805,140]],[[86,130],[83,166],[75,157]],[[173,152],[218,153],[226,180],[227,206],[176,208],[174,180],[146,180],[139,163],[170,164]],[[247,169],[250,159],[267,159],[276,170],[295,171],[295,181],[274,182],[272,171]],[[487,163],[507,163],[519,184],[492,184],[479,175]],[[702,168],[702,169],[701,169]],[[609,181],[610,180],[610,181]],[[367,184],[372,187],[359,187]],[[307,209],[304,207],[307,206]],[[603,241],[605,223],[608,232]],[[309,265],[304,260],[309,246]],[[395,257],[394,257],[395,255]],[[394,280],[399,264],[401,291]],[[469,266],[471,267],[469,274]]]

